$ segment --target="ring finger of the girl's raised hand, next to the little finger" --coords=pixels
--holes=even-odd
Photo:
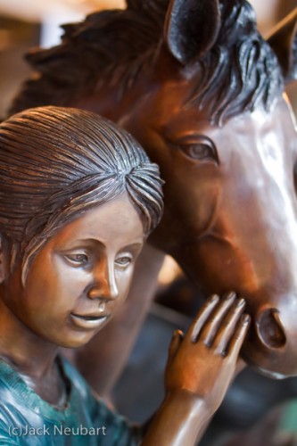
[[[226,318],[224,318],[222,321],[218,334],[215,336],[213,341],[213,348],[219,354],[223,354],[227,350],[227,345],[231,339],[231,336],[235,332],[235,326],[243,314],[244,306],[244,299],[235,301],[231,309],[227,312]]]

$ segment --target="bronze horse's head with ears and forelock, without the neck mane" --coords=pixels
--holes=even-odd
[[[153,244],[207,292],[247,299],[243,354],[276,377],[297,375],[297,134],[282,95],[297,67],[291,25],[277,33],[290,47],[270,39],[281,73],[249,4],[172,0],[153,87],[120,120],[166,182]]]

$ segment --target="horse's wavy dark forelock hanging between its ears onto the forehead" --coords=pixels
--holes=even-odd
[[[199,62],[202,80],[189,103],[212,122],[259,106],[269,111],[284,91],[276,54],[260,36],[255,12],[245,0],[222,2],[216,45]]]

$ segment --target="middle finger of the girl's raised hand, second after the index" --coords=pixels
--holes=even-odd
[[[219,326],[221,325],[230,307],[233,305],[235,298],[235,293],[228,293],[222,299],[222,301],[220,301],[216,310],[212,312],[209,320],[204,324],[199,340],[205,343],[205,345],[210,346],[212,343],[213,338],[218,332]]]

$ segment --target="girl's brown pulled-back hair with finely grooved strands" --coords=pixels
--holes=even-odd
[[[95,113],[22,111],[0,125],[0,233],[30,262],[62,226],[123,192],[148,235],[163,208],[159,168],[136,140]],[[120,227],[119,227],[120,230]]]

